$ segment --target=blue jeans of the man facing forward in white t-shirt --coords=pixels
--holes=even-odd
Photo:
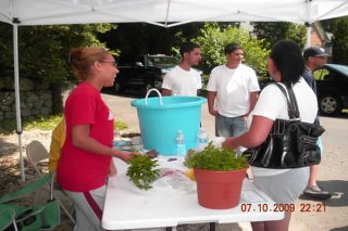
[[[243,116],[225,117],[219,115],[215,117],[216,137],[237,137],[247,131],[247,125]]]

